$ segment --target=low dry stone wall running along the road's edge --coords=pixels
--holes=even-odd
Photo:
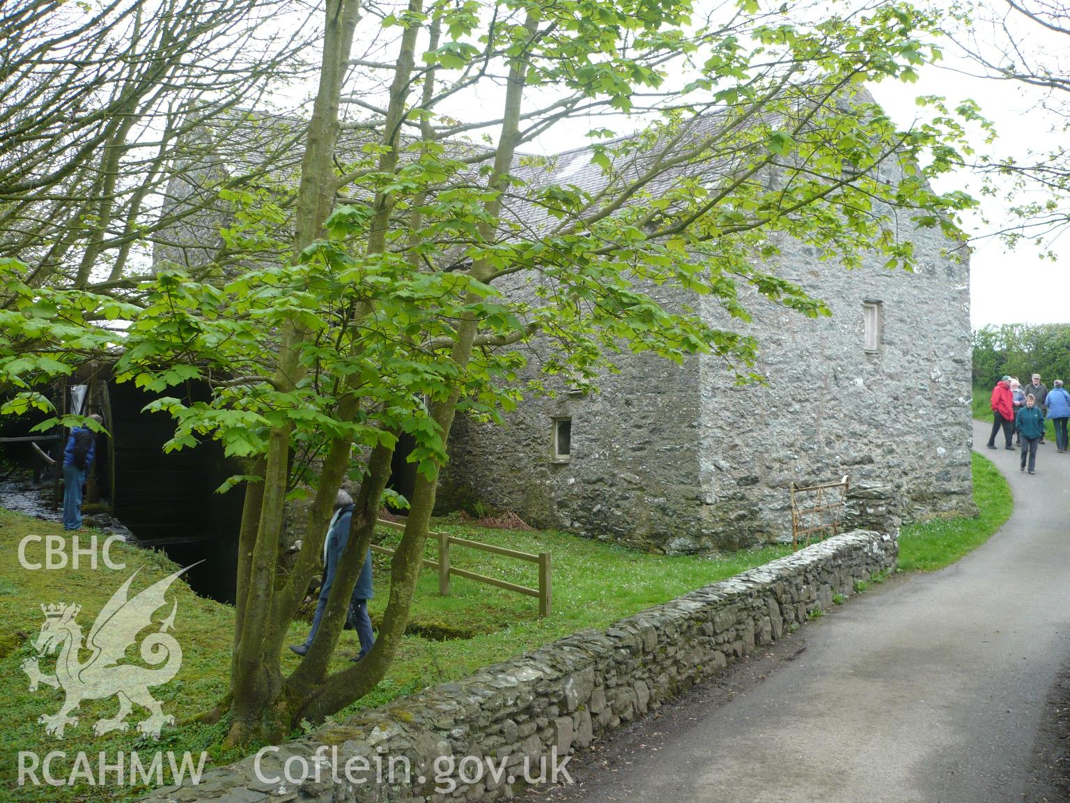
[[[198,786],[157,790],[148,800],[511,798],[526,784],[525,767],[528,777],[537,778],[539,761],[546,759],[549,776],[553,756],[560,767],[569,752],[779,638],[815,609],[830,607],[835,594],[852,594],[856,581],[893,569],[897,555],[898,544],[889,534],[856,530],[838,535],[623,619],[605,632],[574,634],[208,773]],[[299,783],[286,779],[287,767]],[[501,771],[491,772],[491,767]]]

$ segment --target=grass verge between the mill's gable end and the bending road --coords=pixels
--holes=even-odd
[[[903,527],[899,534],[899,567],[935,572],[972,552],[1010,518],[1014,507],[1010,486],[992,463],[973,455],[976,518],[937,519]]]

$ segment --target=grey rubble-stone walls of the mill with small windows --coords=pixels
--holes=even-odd
[[[582,184],[590,162],[588,151],[569,151],[552,173]],[[169,195],[182,202],[190,192]],[[192,221],[175,237],[187,245],[163,256],[199,261],[217,224]],[[843,475],[854,491],[847,524],[974,511],[968,261],[939,227],[914,229],[908,213],[897,225],[912,232],[913,273],[885,269],[875,253],[847,270],[779,243],[764,267],[831,317],[744,292],[752,321],[729,322],[716,302],[689,300],[712,324],[758,339],[764,382],[737,384],[712,357],[677,365],[624,353],[597,392],[561,380],[554,397],[526,397],[504,427],[458,415],[439,512],[482,502],[535,526],[681,552],[790,539],[792,484]]]

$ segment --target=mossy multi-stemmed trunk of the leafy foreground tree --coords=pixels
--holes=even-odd
[[[418,13],[422,11],[422,0],[410,0],[409,9]],[[526,28],[531,36],[536,35],[536,17],[530,16]],[[401,37],[401,45],[397,59],[397,66],[394,81],[391,87],[391,104],[386,117],[386,134],[384,145],[387,146],[380,157],[380,170],[392,172],[398,164],[398,153],[396,138],[400,130],[403,115],[406,113],[406,99],[411,80],[411,73],[414,66],[416,36],[418,26],[411,25]],[[326,56],[324,56],[326,58]],[[516,151],[516,142],[519,138],[519,121],[521,110],[521,100],[524,89],[525,65],[517,60],[510,64],[508,87],[506,91],[505,116],[502,125],[502,134],[495,154],[494,168],[490,178],[490,186],[493,188],[504,188],[508,181],[508,172],[513,164]],[[310,140],[312,135],[310,134]],[[306,157],[305,169],[308,169]],[[302,190],[305,191],[303,179]],[[493,218],[501,212],[501,201],[499,198],[488,200],[486,210]],[[321,210],[325,209],[320,207]],[[374,215],[372,216],[367,253],[382,253],[386,246],[386,232],[389,227],[392,200],[387,194],[380,193],[374,199]],[[307,212],[307,207],[305,208]],[[325,213],[324,213],[325,217]],[[320,219],[322,225],[322,218]],[[299,223],[299,231],[301,224]],[[480,224],[480,234],[487,242],[491,242],[496,237],[496,228],[492,223]],[[479,279],[486,279],[490,274],[490,268],[477,261],[472,267],[472,274]],[[471,299],[476,300],[474,297]],[[457,339],[450,352],[449,359],[461,369],[463,369],[472,354],[473,343],[478,329],[478,322],[474,316],[468,315],[457,327]],[[295,354],[296,345],[294,332],[287,333],[289,337],[284,337],[280,349],[280,366],[288,357]],[[287,363],[288,365],[290,363]],[[281,374],[280,369],[280,374]],[[348,420],[350,413],[356,412],[355,403],[343,397],[341,407],[346,404],[354,404],[351,411],[342,413],[339,409],[339,419]],[[460,387],[454,389],[450,395],[439,403],[434,403],[430,408],[430,415],[442,431],[443,439],[448,441],[449,430],[457,411],[457,404],[460,398]],[[277,439],[276,439],[277,436]],[[284,437],[285,436],[285,437]],[[285,729],[297,725],[302,719],[320,722],[324,716],[345,708],[349,703],[364,696],[382,680],[397,652],[404,635],[406,626],[409,622],[409,611],[412,596],[415,591],[416,580],[424,558],[424,547],[427,533],[430,527],[431,512],[434,507],[434,498],[438,487],[438,480],[428,480],[418,475],[411,500],[404,534],[401,543],[395,550],[391,566],[389,599],[383,621],[379,631],[379,638],[376,646],[368,655],[358,664],[349,667],[331,677],[325,677],[326,666],[334,650],[338,636],[341,633],[345,620],[345,611],[349,602],[349,590],[352,588],[360,573],[364,555],[370,543],[374,528],[376,518],[379,511],[383,487],[389,476],[389,459],[392,449],[379,445],[372,450],[368,475],[362,485],[362,493],[357,506],[354,510],[350,537],[345,554],[335,575],[335,585],[327,601],[324,618],[320,623],[312,646],[308,654],[293,675],[285,682],[279,683],[277,673],[263,669],[264,666],[278,666],[278,655],[285,639],[286,627],[292,616],[292,607],[295,604],[294,594],[296,587],[306,571],[309,571],[319,549],[314,549],[317,545],[322,545],[322,536],[317,533],[309,536],[299,557],[297,565],[290,578],[290,582],[274,595],[263,593],[258,589],[270,589],[270,584],[264,582],[268,571],[266,562],[261,562],[262,557],[266,560],[268,549],[265,542],[274,545],[274,540],[264,531],[265,525],[271,517],[280,515],[275,513],[275,507],[280,503],[280,499],[273,493],[273,486],[279,482],[278,476],[273,476],[273,467],[279,465],[284,440],[288,441],[289,433],[282,430],[272,433],[272,451],[268,456],[266,475],[270,479],[264,485],[264,496],[262,502],[260,527],[258,528],[257,547],[254,552],[250,571],[250,585],[247,595],[246,610],[271,611],[269,616],[251,617],[246,615],[244,628],[245,633],[241,637],[240,652],[242,656],[236,658],[239,673],[242,685],[236,678],[234,682],[234,724],[231,730],[231,739],[235,742],[241,739],[248,739],[259,732],[264,736],[273,734],[273,731]],[[334,441],[331,446],[328,458],[324,463],[324,471],[321,475],[320,487],[317,494],[316,509],[324,504],[330,504],[327,491],[333,495],[332,485],[337,488],[337,482],[341,480],[345,470],[345,457],[348,457],[349,443],[347,441]],[[278,486],[285,488],[285,486]],[[269,513],[271,511],[271,513]],[[310,514],[310,524],[316,515]],[[326,522],[323,516],[323,525]],[[258,579],[259,578],[259,579]],[[307,578],[304,579],[307,584]],[[265,621],[270,623],[264,626]],[[256,661],[251,658],[255,656]],[[258,669],[257,667],[261,667]]]

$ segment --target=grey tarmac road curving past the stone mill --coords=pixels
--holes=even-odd
[[[577,756],[579,785],[547,799],[1064,800],[1038,782],[1036,754],[1070,660],[1070,453],[1039,446],[1030,476],[1002,440],[984,448],[988,431],[975,423],[975,446],[1015,502],[988,544],[853,597],[729,680],[596,743]]]

